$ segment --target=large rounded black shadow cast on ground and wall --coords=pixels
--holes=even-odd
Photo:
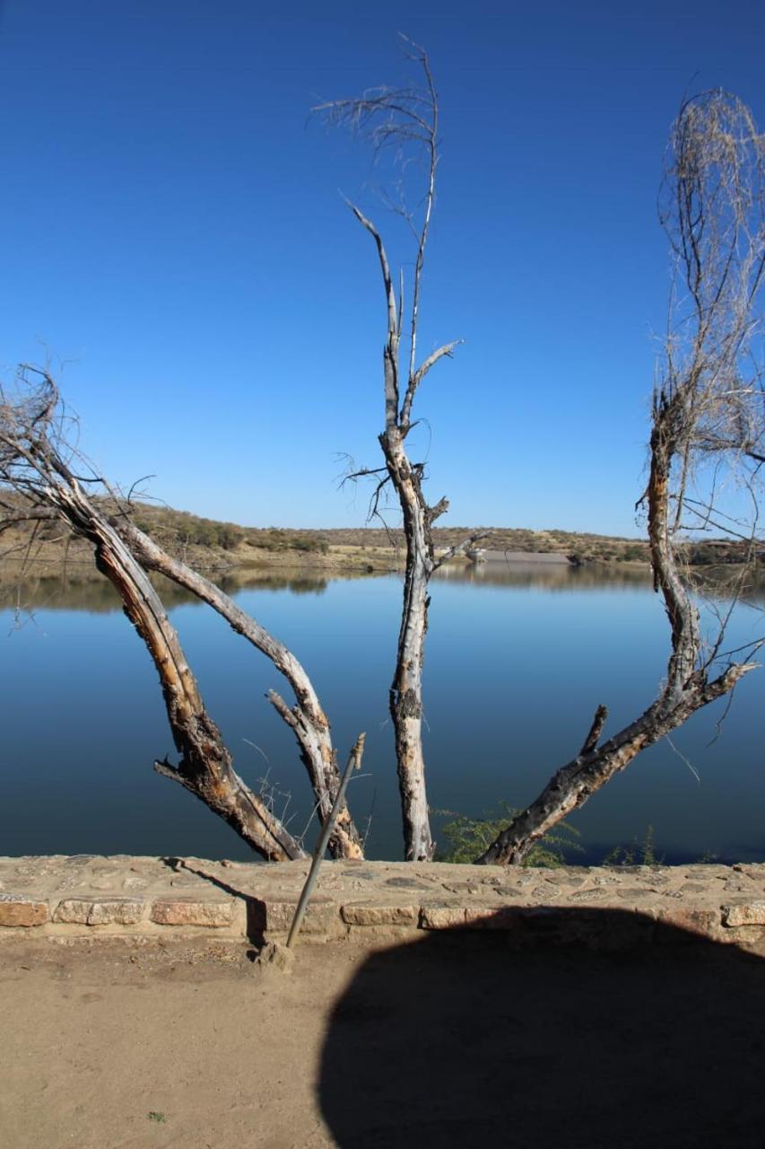
[[[439,932],[364,963],[320,1067],[341,1149],[765,1146],[759,957],[617,911],[534,932]]]

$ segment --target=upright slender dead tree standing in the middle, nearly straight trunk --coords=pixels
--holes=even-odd
[[[425,188],[418,210],[407,207],[403,195],[391,207],[405,221],[416,245],[415,268],[411,278],[411,302],[404,308],[404,275],[399,275],[399,298],[382,238],[377,226],[355,205],[348,207],[356,219],[374,240],[385,290],[387,331],[382,349],[382,380],[385,401],[385,430],[378,437],[385,466],[384,479],[378,486],[391,484],[396,493],[403,518],[405,540],[405,570],[403,608],[396,663],[389,691],[389,709],[395,733],[396,764],[404,836],[404,857],[408,861],[430,861],[434,842],[428,820],[425,791],[425,759],[423,755],[423,658],[430,603],[428,583],[439,566],[448,558],[474,542],[481,535],[465,539],[438,558],[433,547],[432,526],[443,515],[449,503],[440,499],[430,506],[423,493],[424,466],[412,463],[407,453],[407,435],[415,426],[412,406],[419,385],[439,360],[450,357],[461,340],[445,344],[417,363],[417,331],[420,315],[425,252],[435,200],[435,178],[439,162],[439,103],[426,53],[404,40],[408,55],[422,70],[422,87],[379,87],[361,97],[333,100],[319,105],[315,113],[331,123],[350,128],[368,137],[376,152],[393,152],[403,167],[424,160]],[[405,326],[404,331],[404,310]],[[402,340],[405,355],[402,356]],[[351,476],[379,473],[370,469]],[[377,502],[374,503],[377,506]]]

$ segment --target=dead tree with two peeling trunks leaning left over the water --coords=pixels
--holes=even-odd
[[[62,409],[51,376],[22,368],[13,396],[0,393],[0,487],[7,514],[0,526],[26,519],[36,524],[59,518],[87,539],[99,570],[117,589],[125,614],[144,640],[160,676],[165,709],[180,761],[155,769],[180,782],[223,817],[257,853],[271,861],[304,857],[304,850],[263,800],[235,773],[231,755],[208,715],[178,635],[147,571],[159,571],[195,593],[230,625],[262,650],[295,692],[289,708],[276,692],[270,701],[294,731],[307,766],[319,820],[329,818],[340,786],[330,725],[308,674],[287,648],[240,610],[218,587],[172,558],[134,527],[126,507],[98,477],[75,473],[67,447]],[[85,484],[106,488],[94,499]],[[21,495],[21,501],[18,496]],[[3,500],[0,500],[2,502]],[[111,510],[111,514],[109,514]],[[330,841],[335,857],[361,857],[361,839],[343,805]]]

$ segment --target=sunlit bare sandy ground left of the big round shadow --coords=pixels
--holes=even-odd
[[[289,974],[242,946],[0,948],[2,1149],[332,1144],[316,1104],[353,953]]]

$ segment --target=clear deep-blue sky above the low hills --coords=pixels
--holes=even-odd
[[[252,525],[364,522],[384,308],[403,253],[320,99],[431,55],[442,162],[423,352],[448,522],[635,534],[667,249],[656,192],[686,91],[765,118],[760,3],[0,0],[0,362],[53,356],[116,481]],[[430,429],[430,430],[428,430]],[[412,437],[414,438],[414,437]],[[446,519],[443,522],[447,522]]]

